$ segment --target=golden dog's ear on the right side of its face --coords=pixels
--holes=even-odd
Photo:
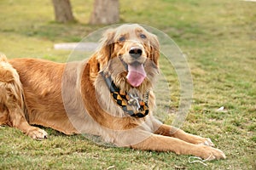
[[[151,59],[154,64],[158,66],[158,60],[160,57],[160,43],[154,34],[150,35],[149,42],[151,50],[149,59]]]

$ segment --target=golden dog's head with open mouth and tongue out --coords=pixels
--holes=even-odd
[[[101,42],[97,52],[100,69],[111,74],[119,88],[152,87],[160,56],[154,34],[137,24],[123,25],[106,31]]]

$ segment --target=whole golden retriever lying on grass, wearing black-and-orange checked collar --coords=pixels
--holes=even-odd
[[[89,133],[137,150],[173,151],[212,160],[225,158],[210,139],[162,124],[153,115],[160,44],[142,26],[106,31],[83,62],[0,60],[0,125],[45,139],[38,127]]]

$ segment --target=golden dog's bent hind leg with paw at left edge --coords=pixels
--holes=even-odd
[[[20,77],[0,54],[0,125],[19,128],[32,139],[45,139],[47,133],[28,124],[25,117],[25,103]]]

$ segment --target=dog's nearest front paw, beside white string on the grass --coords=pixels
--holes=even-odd
[[[210,146],[201,145],[200,152],[198,156],[203,158],[204,160],[211,161],[215,159],[225,159],[226,156],[222,150],[218,150],[216,148],[212,148]]]

